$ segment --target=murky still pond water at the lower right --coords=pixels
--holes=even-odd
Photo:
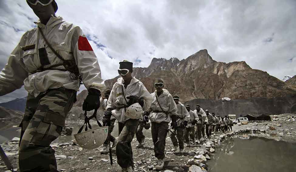
[[[208,163],[209,171],[296,171],[295,152],[295,143],[241,135],[219,145],[213,160]]]

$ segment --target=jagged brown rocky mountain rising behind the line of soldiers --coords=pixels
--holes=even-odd
[[[162,78],[164,88],[172,95],[178,94],[182,102],[197,98],[274,98],[296,93],[296,88],[290,84],[250,68],[245,61],[217,62],[207,50],[200,50],[181,61],[153,58],[147,68],[134,68],[132,75],[142,81],[149,92],[155,90],[153,81]],[[106,80],[107,88],[111,89],[118,77]]]

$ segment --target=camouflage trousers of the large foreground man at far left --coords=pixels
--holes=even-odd
[[[21,172],[57,171],[54,150],[49,145],[65,126],[65,119],[76,100],[76,91],[48,90],[36,98],[28,95],[19,145]]]

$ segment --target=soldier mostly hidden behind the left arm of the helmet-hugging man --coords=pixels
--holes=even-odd
[[[108,101],[110,93],[111,93],[111,90],[106,90],[104,92],[104,96],[102,98],[100,98],[101,108],[103,109],[104,113],[106,111],[107,101]],[[111,121],[110,121],[110,125],[108,126],[108,132],[109,132],[108,134],[110,134],[110,141],[112,142],[112,144],[111,144],[112,148],[115,147],[117,144],[115,137],[113,137],[111,135],[111,132],[113,131],[113,128],[114,128],[115,121],[116,121],[115,117],[112,116]],[[103,125],[105,126],[106,123],[103,123]],[[109,144],[109,137],[107,137],[106,141],[104,142],[103,147],[100,150],[100,153],[103,153],[103,154],[108,153],[108,144]]]

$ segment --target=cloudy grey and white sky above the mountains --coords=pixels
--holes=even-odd
[[[187,58],[207,49],[216,61],[246,61],[279,79],[296,74],[295,0],[56,0],[56,15],[90,40],[102,78],[118,62],[147,67],[151,59]],[[37,17],[25,0],[0,1],[0,68]],[[0,102],[26,96],[20,89]]]

